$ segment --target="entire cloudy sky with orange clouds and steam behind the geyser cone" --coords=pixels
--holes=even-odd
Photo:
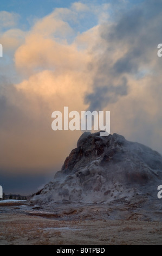
[[[0,3],[0,185],[34,193],[82,131],[51,113],[110,111],[111,133],[162,154],[162,1]]]

